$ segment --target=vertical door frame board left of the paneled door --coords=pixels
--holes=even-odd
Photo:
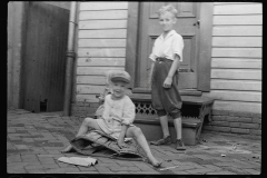
[[[139,2],[129,2],[127,23],[127,47],[126,47],[126,71],[131,76],[130,87],[134,88],[136,81],[136,59],[137,59],[137,33],[138,33],[138,11]]]

